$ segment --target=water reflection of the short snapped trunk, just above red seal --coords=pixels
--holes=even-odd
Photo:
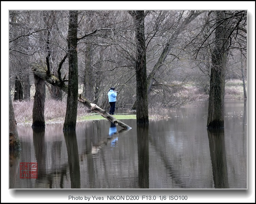
[[[42,179],[46,175],[46,148],[45,127],[33,127],[33,144],[37,161],[37,178]],[[39,182],[37,180],[37,183]]]

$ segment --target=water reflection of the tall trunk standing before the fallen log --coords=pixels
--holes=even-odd
[[[81,188],[76,131],[63,131],[67,147],[71,188]]]

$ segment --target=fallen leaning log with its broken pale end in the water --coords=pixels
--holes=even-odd
[[[36,74],[38,77],[43,79],[44,81],[48,82],[49,84],[53,86],[59,87],[61,90],[63,90],[65,93],[68,92],[68,85],[64,83],[64,81],[61,81],[57,77],[55,77],[53,74],[48,73],[47,69],[44,67],[34,64],[32,65],[32,71],[34,74]],[[91,109],[92,111],[100,114],[102,117],[108,119],[109,121],[113,122],[115,125],[119,125],[124,129],[131,129],[131,127],[116,118],[114,118],[112,115],[110,115],[106,110],[101,109],[96,104],[92,103],[85,97],[83,97],[81,94],[78,96],[78,101],[81,102],[83,105]]]

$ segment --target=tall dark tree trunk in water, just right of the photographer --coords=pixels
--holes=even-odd
[[[144,11],[131,13],[135,23],[136,38],[136,117],[137,123],[148,123],[146,45],[144,35]]]

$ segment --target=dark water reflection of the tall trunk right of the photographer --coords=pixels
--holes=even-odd
[[[137,124],[139,187],[149,188],[148,124]]]

